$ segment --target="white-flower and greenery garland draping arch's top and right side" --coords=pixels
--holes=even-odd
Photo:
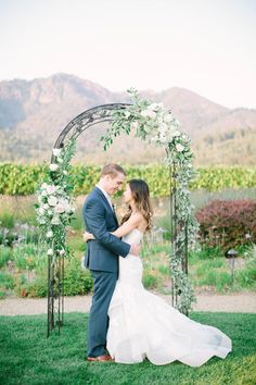
[[[114,137],[120,135],[121,132],[129,135],[131,131],[136,131],[137,137],[166,150],[166,164],[172,170],[176,179],[172,192],[178,229],[169,254],[170,271],[178,294],[177,308],[182,312],[188,312],[192,302],[195,301],[195,296],[188,275],[181,269],[181,260],[187,247],[185,243],[189,248],[194,247],[199,232],[199,223],[189,191],[189,184],[195,176],[191,163],[193,159],[191,140],[163,103],[141,99],[133,88],[128,92],[132,104],[112,113],[112,123],[106,135],[102,137],[104,149],[110,147]]]

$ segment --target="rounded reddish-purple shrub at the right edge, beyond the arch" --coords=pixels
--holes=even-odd
[[[256,241],[256,200],[215,200],[196,213],[201,241],[222,250]]]

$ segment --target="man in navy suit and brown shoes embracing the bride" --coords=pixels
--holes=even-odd
[[[139,245],[128,245],[110,234],[118,227],[111,196],[121,188],[126,173],[118,164],[103,167],[100,182],[87,197],[82,214],[86,228],[94,238],[87,243],[85,266],[93,278],[93,296],[88,326],[88,361],[112,361],[105,353],[107,310],[118,277],[118,256],[139,256]]]

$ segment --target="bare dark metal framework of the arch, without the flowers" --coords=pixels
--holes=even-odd
[[[59,135],[54,148],[63,148],[65,141],[69,139],[77,139],[89,127],[104,122],[112,121],[112,111],[126,109],[129,103],[111,103],[93,107],[73,119]],[[52,154],[51,161],[54,160]],[[169,169],[170,172],[170,225],[171,238],[170,243],[177,236],[178,224],[176,221],[176,171]],[[174,183],[171,184],[171,179]],[[188,243],[185,250],[183,250],[183,258],[181,260],[181,269],[188,274]],[[171,245],[170,245],[171,246]],[[171,303],[178,303],[178,293],[174,280],[171,280]],[[48,328],[47,336],[57,327],[60,335],[61,326],[64,324],[64,257],[51,256],[48,259]]]

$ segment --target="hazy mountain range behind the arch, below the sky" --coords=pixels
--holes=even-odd
[[[228,109],[184,88],[161,92],[140,91],[162,101],[192,138],[197,164],[254,164],[256,153],[256,110]],[[112,92],[74,75],[0,82],[1,161],[41,162],[48,160],[61,131],[87,109],[112,102],[128,102],[125,92]],[[153,162],[164,157],[133,137],[118,137],[112,151],[102,151],[99,138],[106,129],[97,125],[79,140],[76,161]],[[241,149],[245,151],[241,157]],[[229,153],[229,156],[227,156]]]

